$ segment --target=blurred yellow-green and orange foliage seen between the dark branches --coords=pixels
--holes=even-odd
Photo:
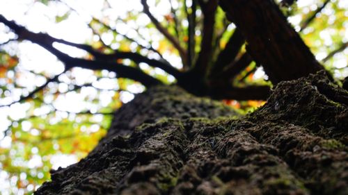
[[[32,0],[27,9],[30,10],[35,5],[40,5],[42,10],[63,6],[63,11],[57,11],[53,16],[46,15],[53,24],[75,22],[74,18],[86,18],[88,15],[86,28],[90,28],[91,33],[86,43],[95,49],[104,53],[111,53],[116,49],[132,51],[157,59],[162,56],[173,66],[182,68],[177,50],[141,12],[139,0],[100,1],[102,6],[97,13],[80,12],[84,9],[79,9],[78,6],[69,7],[70,1]],[[189,4],[191,1],[186,2]],[[118,3],[122,3],[122,6],[118,6],[121,8],[116,8]],[[187,12],[192,10],[185,10],[184,1],[164,0],[148,3],[150,7],[157,8],[152,12],[159,22],[185,47],[188,42],[186,17]],[[323,3],[321,0],[299,0],[292,5],[281,7],[296,31],[301,31],[301,37],[318,60],[324,59],[348,41],[348,3],[345,0],[330,1],[305,29],[301,29],[301,22],[313,15]],[[81,4],[81,7],[84,5]],[[202,28],[199,8],[196,15],[195,49],[198,52]],[[227,22],[220,8],[216,20],[216,42],[213,44],[214,53],[219,53],[226,46],[235,26]],[[8,33],[7,28],[1,27],[1,31],[8,35],[9,40],[15,37]],[[69,32],[70,29],[66,31]],[[9,41],[8,44],[0,46],[0,105],[19,101],[49,78],[61,74],[59,69],[52,70],[54,65],[61,66],[58,62],[36,69],[26,65],[30,60],[24,59],[22,47],[27,44],[29,43]],[[242,49],[239,56],[243,52],[245,49]],[[84,58],[91,57],[85,55]],[[348,76],[347,61],[348,51],[345,49],[336,53],[324,65],[333,72],[335,78],[342,79]],[[137,65],[130,60],[119,62],[142,69],[164,83],[175,81],[173,76],[168,76],[161,69],[145,64]],[[234,82],[239,86],[252,83],[269,84],[262,67],[255,62],[242,71]],[[57,80],[53,80],[32,98],[1,106],[0,130],[3,132],[0,132],[0,183],[4,184],[0,187],[0,194],[31,193],[40,183],[49,180],[50,169],[57,169],[57,166],[66,166],[84,158],[105,135],[111,123],[111,114],[120,108],[122,103],[131,100],[134,94],[143,90],[145,88],[141,84],[126,78],[116,78],[116,74],[109,71],[75,68],[61,74]],[[234,100],[223,102],[246,112],[264,103]]]

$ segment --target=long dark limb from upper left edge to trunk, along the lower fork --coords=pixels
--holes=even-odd
[[[81,67],[93,70],[106,69],[109,71],[116,71],[118,77],[131,78],[133,80],[139,81],[146,87],[150,87],[152,85],[159,85],[161,83],[156,78],[153,78],[148,74],[145,74],[143,71],[139,69],[127,67],[116,62],[72,58],[67,54],[59,51],[58,49],[55,49],[54,46],[52,46],[54,40],[52,40],[49,35],[44,33],[32,33],[26,30],[26,28],[24,28],[23,26],[19,26],[15,24],[15,22],[8,21],[2,15],[0,15],[0,22],[3,22],[3,24],[6,24],[6,26],[10,27],[13,31],[15,31],[19,39],[29,40],[33,43],[39,44],[43,48],[47,49],[47,51],[53,53],[58,58],[58,60],[61,60],[65,64],[65,69],[70,69],[72,67]]]

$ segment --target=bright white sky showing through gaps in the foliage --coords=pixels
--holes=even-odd
[[[113,0],[109,1],[109,4],[112,9],[106,9],[106,11],[101,12],[104,8],[104,1],[101,0],[93,0],[93,1],[86,1],[86,0],[62,0],[75,10],[79,12],[79,15],[77,13],[72,12],[68,19],[64,20],[63,22],[56,23],[56,15],[64,15],[65,12],[67,12],[68,8],[62,3],[59,2],[52,2],[49,4],[50,6],[45,6],[42,3],[34,2],[34,0],[1,0],[1,6],[0,6],[0,14],[4,15],[7,19],[15,20],[18,24],[22,24],[29,28],[29,30],[33,32],[45,32],[49,33],[49,35],[52,35],[57,38],[62,38],[64,40],[68,40],[71,42],[76,43],[84,43],[88,40],[90,40],[90,37],[92,36],[92,31],[88,28],[86,25],[90,21],[90,17],[94,16],[97,18],[102,18],[104,16],[108,16],[111,21],[116,21],[118,17],[127,17],[127,11],[134,10],[141,12],[142,6],[139,0]],[[335,1],[335,0],[333,0]],[[337,0],[336,0],[337,1]],[[309,5],[313,5],[314,2],[317,2],[315,0],[299,0],[299,7],[305,7]],[[340,1],[342,2],[340,6],[348,9],[348,1]],[[148,1],[148,4],[151,8],[152,5],[154,5],[155,0]],[[174,5],[175,6],[175,5]],[[164,15],[168,13],[169,4],[168,1],[160,1],[157,8],[152,8],[151,11],[154,13],[154,15],[159,19],[163,19],[161,15]],[[315,10],[316,6],[310,6],[308,8],[308,11]],[[330,10],[324,10],[326,12],[329,12]],[[348,15],[348,11],[347,11]],[[299,25],[299,22],[301,21],[301,17],[298,15],[294,17],[290,17],[290,22],[294,24],[295,26]],[[139,24],[148,24],[149,19],[145,15],[140,15],[139,18],[136,20],[136,23],[129,23],[129,24],[116,24],[113,22],[110,22],[111,27],[116,27],[119,29],[120,33],[124,33],[129,35],[130,37],[136,38],[136,33],[134,33],[134,30],[132,28],[136,28]],[[347,28],[348,28],[348,22],[347,22]],[[295,27],[298,28],[298,27]],[[8,38],[14,37],[13,34],[8,35],[8,33],[3,33],[3,29],[6,29],[3,24],[0,24],[0,42],[5,42],[8,40]],[[326,40],[326,44],[331,44],[330,38],[328,35],[329,31],[323,31],[321,36]],[[153,37],[151,33],[148,31],[148,29],[142,29],[141,34],[145,37],[145,40],[139,40],[139,42],[142,42],[143,44],[148,44],[147,40],[158,40],[159,37]],[[348,40],[348,31],[345,32],[345,35],[343,36],[344,40]],[[102,35],[102,39],[105,42],[111,42],[111,35],[104,34]],[[117,44],[114,45],[117,47]],[[152,44],[152,46],[157,47],[158,44],[156,41]],[[18,45],[13,44],[10,45],[13,49],[19,49],[19,58],[21,59],[19,68],[24,71],[34,71],[35,73],[43,72],[45,73],[45,76],[52,77],[56,74],[61,73],[63,71],[63,65],[61,62],[58,62],[52,54],[45,51],[45,49],[42,49],[40,46],[37,46],[35,44],[31,44],[30,42],[22,42]],[[56,45],[58,49],[61,49],[62,51],[69,53],[69,55],[74,57],[82,57],[86,53],[84,51],[81,51],[79,49],[74,49],[69,46],[60,46]],[[340,55],[348,55],[348,51],[346,51]],[[317,58],[322,59],[326,56],[326,53],[318,53]],[[171,53],[164,53],[164,57],[166,60],[171,62],[172,65],[175,67],[181,67],[180,58],[177,56],[173,56]],[[156,56],[153,56],[153,58],[156,58]],[[344,58],[342,58],[344,59]],[[346,67],[347,61],[346,60],[338,60],[338,62],[335,65],[336,67]],[[141,68],[147,69],[148,65],[142,64]],[[161,69],[155,69],[156,74],[163,74],[164,72],[161,71]],[[152,72],[152,74],[155,74]],[[86,83],[87,81],[92,82],[93,86],[100,87],[100,88],[106,88],[106,89],[118,89],[118,83],[116,82],[115,75],[113,73],[104,72],[104,75],[109,78],[105,78],[102,80],[97,80],[97,78],[93,75],[93,71],[90,70],[83,70],[83,69],[74,69],[71,73],[75,80],[77,81],[77,84]],[[262,69],[258,69],[255,73],[255,78],[262,78],[264,76],[264,72]],[[347,72],[348,76],[348,72]],[[69,83],[69,78],[67,76],[61,76],[59,78],[62,81],[66,81],[65,83]],[[173,80],[173,78],[172,78]],[[35,87],[42,85],[45,83],[45,78],[43,77],[36,77],[33,74],[26,74],[25,77],[22,77],[22,80],[18,80],[18,83],[20,85],[27,87],[29,90],[33,90]],[[1,83],[0,83],[1,84]],[[68,90],[68,85],[62,83],[58,86],[58,90],[60,92],[65,92]],[[139,85],[131,85],[127,88],[130,92],[138,93],[142,92],[144,89],[142,86]],[[28,93],[28,92],[26,92]],[[14,91],[13,94],[10,96],[7,96],[4,99],[0,99],[0,105],[11,103],[13,101],[16,101],[19,96],[22,94],[22,92],[16,92]],[[25,94],[25,92],[24,92]],[[82,95],[81,95],[82,94]],[[84,101],[82,101],[86,96],[91,96],[91,94],[96,94],[95,90],[93,90],[93,87],[87,87],[84,89],[81,94],[76,93],[69,93],[67,96],[60,96],[55,102],[54,107],[58,110],[65,110],[68,112],[81,112],[81,110],[89,109],[89,110],[97,110],[95,105],[92,104],[86,104]],[[112,92],[105,92],[102,98],[102,105],[107,105],[111,101],[111,96],[113,96]],[[120,99],[127,103],[128,101],[132,100],[134,97],[133,94],[129,92],[123,92],[120,96]],[[52,100],[52,97],[47,96],[45,98],[45,101],[48,103]],[[21,119],[26,116],[26,110],[30,108],[29,103],[15,103],[11,105],[10,107],[4,107],[0,108],[0,147],[2,148],[9,148],[11,146],[11,139],[10,137],[3,138],[3,131],[7,129],[7,127],[10,125],[10,121],[8,120],[8,117],[11,117],[12,119]],[[50,111],[50,108],[40,108],[38,110],[35,110],[35,115],[42,115],[42,113],[47,113]],[[28,129],[30,128],[30,124],[28,124]],[[35,130],[32,132],[35,134]],[[77,158],[74,155],[63,155],[58,154],[54,158],[52,158],[52,164],[54,168],[57,167],[66,167],[69,164],[72,164],[74,162],[77,162]],[[33,159],[30,160],[27,164],[29,167],[35,167],[40,166],[41,159],[40,156],[34,155]],[[25,178],[25,176],[20,176],[20,178]],[[6,171],[1,171],[0,167],[0,194],[6,194],[8,192],[8,189],[10,189],[11,181],[8,180],[8,174]],[[31,187],[29,187],[31,188]],[[28,189],[29,190],[29,189]],[[20,191],[17,192],[17,194],[23,194],[24,192]]]

